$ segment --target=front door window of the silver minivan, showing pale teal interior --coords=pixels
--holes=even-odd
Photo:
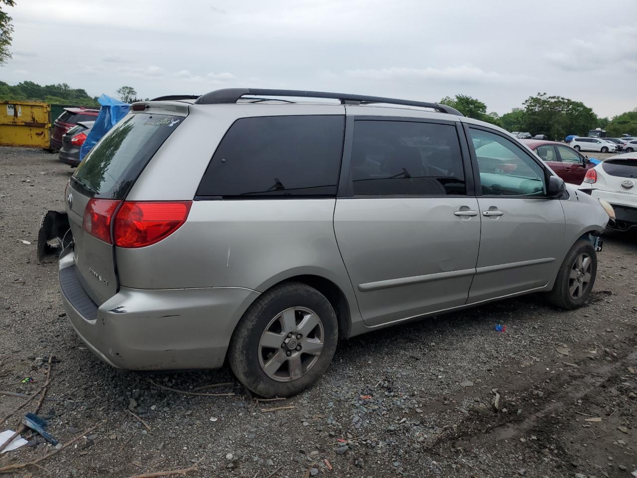
[[[545,196],[544,170],[513,141],[481,129],[469,129],[482,194]]]

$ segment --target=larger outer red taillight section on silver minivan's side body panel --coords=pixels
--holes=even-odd
[[[145,247],[168,237],[188,217],[192,201],[125,201],[113,235],[118,247]]]

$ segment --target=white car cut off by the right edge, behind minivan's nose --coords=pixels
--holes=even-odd
[[[608,228],[637,228],[637,154],[611,156],[587,171],[580,191],[610,203],[615,210],[615,224]]]

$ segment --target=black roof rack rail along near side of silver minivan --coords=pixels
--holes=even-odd
[[[268,90],[261,88],[226,88],[203,94],[197,98],[197,105],[221,105],[236,103],[242,96],[294,96],[298,98],[331,98],[338,99],[342,105],[364,105],[369,103],[387,103],[389,105],[420,106],[433,108],[441,113],[462,116],[462,113],[447,105],[426,103],[425,101],[410,101],[408,99],[382,98],[381,96],[364,96],[360,94],[330,93],[325,91],[301,90]]]

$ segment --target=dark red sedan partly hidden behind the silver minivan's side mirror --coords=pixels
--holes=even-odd
[[[586,172],[594,168],[588,157],[557,141],[521,140],[534,150],[565,182],[582,184]]]

